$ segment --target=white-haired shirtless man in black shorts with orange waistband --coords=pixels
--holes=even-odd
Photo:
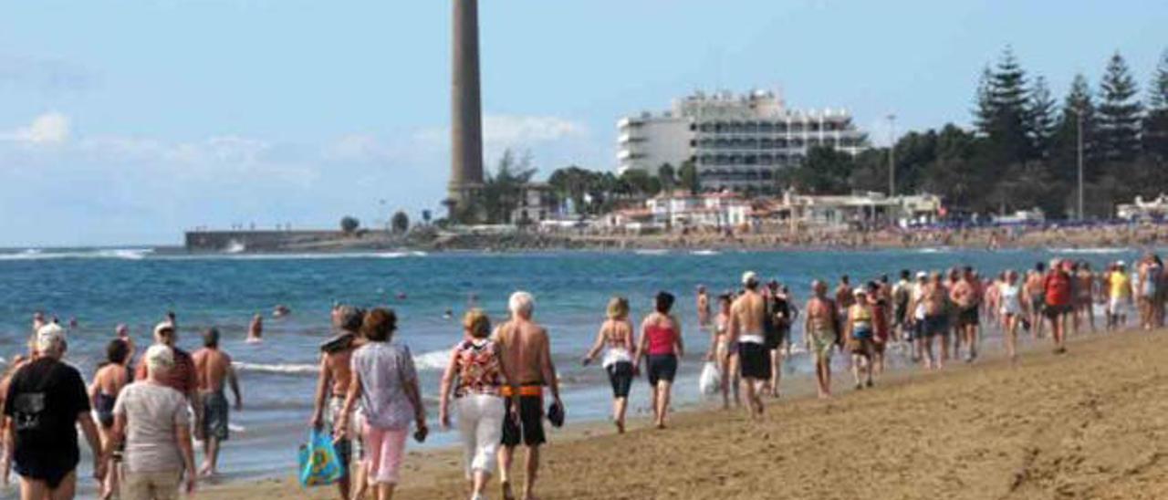
[[[547,443],[543,433],[543,387],[551,390],[552,405],[561,414],[564,403],[559,400],[559,381],[556,379],[556,367],[551,362],[551,342],[548,331],[531,320],[535,312],[535,299],[530,293],[515,292],[508,300],[512,318],[495,329],[495,342],[502,354],[503,366],[510,367],[512,374],[519,381],[519,409],[512,409],[510,390],[505,388],[507,411],[517,411],[515,418],[503,419],[502,447],[499,449],[499,480],[502,496],[514,499],[512,491],[510,466],[515,456],[515,446],[522,442],[527,446],[523,480],[523,499],[535,498],[535,479],[540,472],[540,445]]]

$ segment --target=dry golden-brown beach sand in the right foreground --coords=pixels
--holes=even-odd
[[[1168,334],[1045,345],[1003,360],[913,371],[835,398],[677,415],[625,436],[552,433],[543,499],[1168,498]],[[635,395],[634,395],[635,396]],[[569,409],[570,410],[570,409]],[[593,435],[584,436],[584,432]],[[398,499],[463,499],[459,454],[411,456]],[[207,498],[329,498],[292,481]],[[498,498],[498,488],[491,489]]]

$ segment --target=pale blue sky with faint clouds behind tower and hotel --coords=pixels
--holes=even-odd
[[[847,107],[877,143],[968,124],[1007,44],[1061,97],[1168,2],[482,0],[486,155],[614,165],[614,123],[693,90]],[[0,246],[179,244],[234,223],[438,207],[450,1],[0,1]]]

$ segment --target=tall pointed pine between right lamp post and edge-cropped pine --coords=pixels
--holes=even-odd
[[[1140,152],[1142,105],[1127,62],[1115,53],[1099,84],[1099,146],[1108,161],[1132,161]]]

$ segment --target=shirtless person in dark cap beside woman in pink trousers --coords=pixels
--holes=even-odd
[[[332,322],[336,332],[325,343],[320,346],[320,375],[317,377],[317,395],[313,401],[312,426],[321,429],[327,422],[332,426],[339,426],[341,410],[345,407],[345,396],[349,394],[349,383],[353,381],[353,371],[349,361],[353,352],[364,345],[364,339],[357,333],[361,329],[361,321],[364,312],[353,306],[338,305],[333,307]],[[325,410],[328,410],[326,418]],[[355,416],[349,422],[349,433],[343,439],[334,443],[336,454],[341,459],[341,479],[336,481],[336,489],[342,500],[349,498],[361,498],[364,494],[364,467],[361,466],[362,442],[359,429],[360,411],[353,412]],[[350,471],[350,464],[355,471]],[[355,477],[352,485],[356,492],[350,496],[349,474]]]

